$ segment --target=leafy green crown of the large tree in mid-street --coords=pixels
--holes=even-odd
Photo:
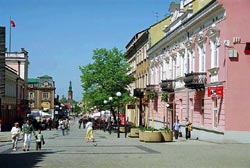
[[[122,98],[129,97],[128,85],[134,77],[127,75],[130,70],[124,54],[117,48],[104,48],[93,51],[93,63],[79,67],[82,73],[83,101],[87,108],[102,106],[103,101],[116,92],[122,93]]]

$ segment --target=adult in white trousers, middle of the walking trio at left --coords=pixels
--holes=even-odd
[[[30,123],[30,120],[27,119],[26,123],[23,125],[22,128],[23,131],[23,151],[29,151],[30,150],[30,141],[31,141],[31,134],[35,136],[35,130],[33,125]]]

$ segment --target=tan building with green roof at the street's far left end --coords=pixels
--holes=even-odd
[[[31,111],[54,112],[55,82],[53,78],[44,75],[28,79],[28,100]]]

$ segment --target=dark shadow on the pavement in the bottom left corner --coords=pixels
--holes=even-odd
[[[0,154],[0,165],[3,168],[34,168],[38,162],[45,158],[45,154],[52,154],[54,152],[27,152],[16,154]]]

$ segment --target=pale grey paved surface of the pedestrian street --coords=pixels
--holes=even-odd
[[[35,150],[11,150],[9,132],[0,132],[1,168],[249,168],[250,144],[217,144],[179,139],[166,143],[145,143],[121,134],[94,130],[95,143],[84,141],[84,129],[72,122],[69,134],[43,131],[46,144]]]

